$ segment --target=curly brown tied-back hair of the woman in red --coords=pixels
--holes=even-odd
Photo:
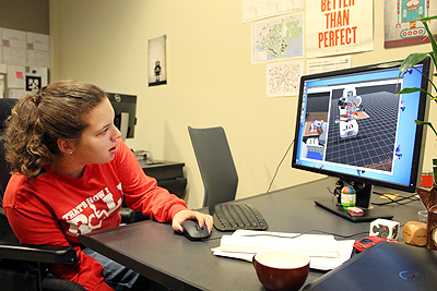
[[[104,98],[99,87],[70,80],[22,97],[7,121],[4,149],[12,171],[28,179],[45,173],[44,166],[61,153],[58,140],[78,143],[88,126],[85,116]]]

